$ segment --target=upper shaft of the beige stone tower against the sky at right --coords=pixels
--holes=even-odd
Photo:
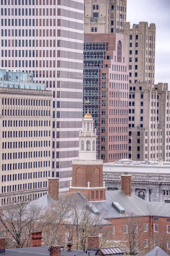
[[[124,45],[129,64],[129,83],[147,81],[154,85],[155,81],[155,45],[156,26],[147,22],[124,25]]]

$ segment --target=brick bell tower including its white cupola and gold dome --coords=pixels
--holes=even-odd
[[[96,159],[96,139],[93,117],[88,111],[79,131],[79,159],[73,160],[69,192],[80,192],[88,201],[105,201],[103,160]]]

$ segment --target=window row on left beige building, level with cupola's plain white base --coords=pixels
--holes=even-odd
[[[13,156],[13,157],[12,157]],[[14,152],[12,153],[3,153],[2,160],[6,159],[22,159],[22,158],[32,158],[32,157],[50,157],[50,151],[34,151],[34,152]]]

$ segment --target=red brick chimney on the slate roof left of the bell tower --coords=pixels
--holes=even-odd
[[[53,200],[57,200],[59,197],[59,178],[51,177],[48,178],[48,195],[53,198]]]

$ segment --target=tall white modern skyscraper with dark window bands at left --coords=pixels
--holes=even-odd
[[[82,123],[83,0],[1,0],[0,68],[53,90],[52,175],[68,191]]]

